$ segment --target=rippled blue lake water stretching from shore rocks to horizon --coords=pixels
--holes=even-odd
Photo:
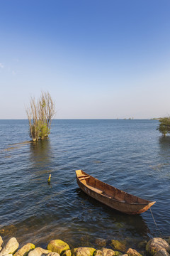
[[[31,143],[27,120],[0,120],[0,235],[21,245],[61,239],[96,248],[100,239],[107,247],[117,239],[137,248],[170,235],[170,138],[157,126],[147,119],[53,120],[49,139]],[[86,196],[77,169],[157,201],[157,226],[149,210],[125,215]]]

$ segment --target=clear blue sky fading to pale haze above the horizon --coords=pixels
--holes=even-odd
[[[170,114],[169,0],[0,0],[0,119]]]

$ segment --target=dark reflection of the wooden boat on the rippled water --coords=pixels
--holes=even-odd
[[[89,209],[89,211],[91,211],[91,218],[96,218],[101,222],[98,225],[103,225],[103,228],[107,229],[108,233],[115,233],[116,235],[122,233],[124,238],[125,235],[128,238],[148,238],[150,230],[141,215],[127,215],[125,213],[120,213],[119,211],[113,210],[103,203],[96,201],[94,198],[87,196],[80,188],[77,188],[76,191],[77,198],[79,198],[79,206],[82,207],[81,214],[85,216],[86,209]]]

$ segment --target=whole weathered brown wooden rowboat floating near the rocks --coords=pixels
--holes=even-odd
[[[77,183],[82,191],[97,201],[104,203],[106,206],[119,210],[122,213],[144,213],[156,203],[121,191],[86,174],[84,171],[77,170],[76,175]]]

